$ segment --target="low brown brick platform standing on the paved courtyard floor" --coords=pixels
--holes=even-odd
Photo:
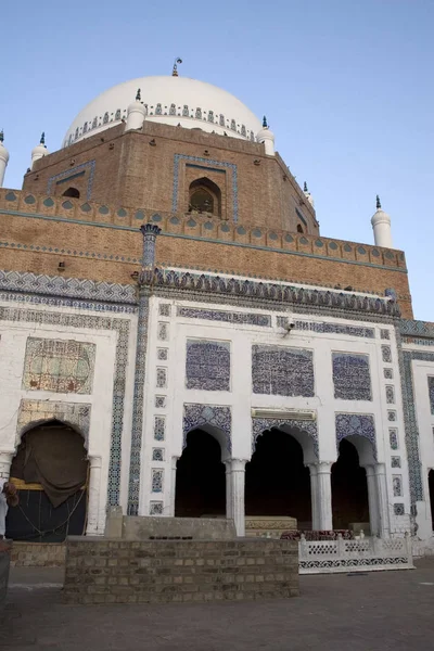
[[[298,546],[288,540],[122,540],[72,536],[67,603],[169,603],[298,595]]]

